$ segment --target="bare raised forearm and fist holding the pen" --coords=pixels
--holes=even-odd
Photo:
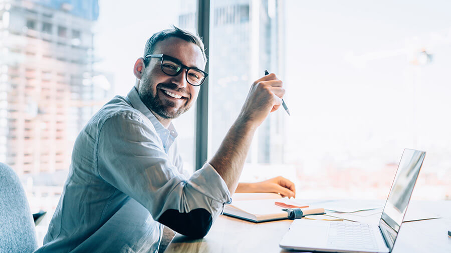
[[[282,85],[274,73],[252,84],[237,120],[209,162],[224,179],[230,192],[237,188],[256,128],[282,104],[281,97],[285,93]]]

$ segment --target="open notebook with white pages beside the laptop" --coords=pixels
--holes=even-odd
[[[274,194],[273,197],[276,198],[251,200],[246,200],[243,198],[239,198],[241,200],[234,199],[231,204],[228,204],[224,207],[224,214],[253,222],[280,220],[287,219],[288,212],[282,210],[284,207],[276,205],[276,201],[286,204],[300,205],[300,203],[298,203],[296,200],[288,199],[286,197],[282,198],[278,194]],[[301,210],[304,215],[324,213],[324,208],[306,207],[301,208]]]

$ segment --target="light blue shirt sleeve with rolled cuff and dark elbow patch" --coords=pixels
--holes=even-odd
[[[114,114],[101,124],[96,157],[100,177],[181,234],[203,237],[231,202],[227,185],[210,164],[190,177],[181,174],[152,124],[138,113]]]

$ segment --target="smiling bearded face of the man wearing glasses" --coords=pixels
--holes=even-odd
[[[192,42],[177,37],[169,37],[157,42],[152,53],[172,56],[188,67],[199,69],[205,67],[200,48]],[[161,70],[160,62],[161,58],[150,58],[144,68],[138,93],[151,111],[162,118],[172,119],[191,107],[197,99],[199,86],[193,86],[186,81],[185,69],[177,76],[165,74]]]

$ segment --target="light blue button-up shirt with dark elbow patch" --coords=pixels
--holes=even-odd
[[[156,252],[161,223],[187,235],[207,231],[231,202],[230,191],[208,163],[192,175],[183,170],[176,136],[134,87],[105,104],[75,141],[62,196],[36,252]]]

